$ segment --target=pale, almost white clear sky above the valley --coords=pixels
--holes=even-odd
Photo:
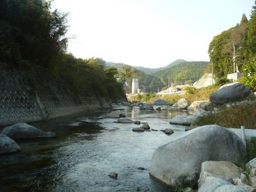
[[[68,51],[79,58],[157,68],[209,61],[213,37],[235,26],[254,0],[55,0],[69,13]],[[75,37],[75,38],[74,38]]]

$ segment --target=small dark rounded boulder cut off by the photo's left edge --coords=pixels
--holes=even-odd
[[[0,134],[0,154],[12,153],[21,150],[21,147],[6,135]]]

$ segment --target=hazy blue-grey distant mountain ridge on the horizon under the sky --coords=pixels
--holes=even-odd
[[[155,72],[157,72],[159,70],[167,69],[167,68],[169,68],[171,66],[178,65],[179,63],[183,63],[183,62],[187,62],[187,61],[185,61],[184,59],[178,59],[178,60],[176,60],[174,62],[171,62],[169,65],[167,65],[165,67],[158,67],[158,68],[135,67],[135,66],[131,66],[131,67],[134,67],[135,69],[137,69],[139,71],[142,71],[143,73],[151,74],[151,73],[155,73]],[[128,66],[125,63],[106,62],[106,64],[109,67],[117,67],[118,70],[121,70],[123,66]]]

